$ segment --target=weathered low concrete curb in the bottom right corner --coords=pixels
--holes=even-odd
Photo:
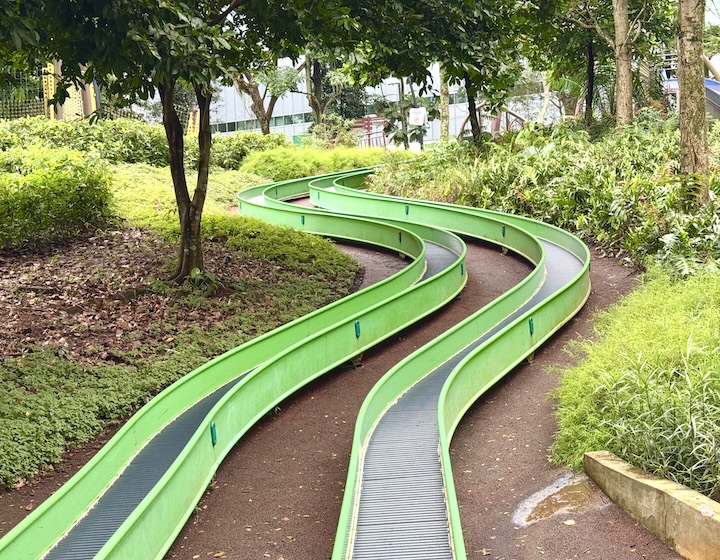
[[[585,472],[633,519],[689,560],[720,560],[720,504],[659,479],[607,451],[586,453]]]

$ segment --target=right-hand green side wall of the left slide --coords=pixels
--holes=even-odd
[[[336,219],[347,222],[347,217]],[[311,221],[304,225],[309,226]],[[449,240],[454,239],[446,235]],[[319,375],[455,297],[466,282],[463,257],[464,254],[457,256],[450,266],[400,294],[299,341],[240,380],[208,414],[208,420],[217,426],[217,447],[213,445],[214,450],[210,447],[207,430],[198,430],[183,454],[99,556],[147,557],[148,543],[158,539],[158,526],[177,527],[179,531],[182,523],[169,522],[168,518],[187,504],[181,521],[187,519],[224,456],[252,425]],[[199,480],[204,473],[207,476]],[[197,493],[191,496],[193,490]],[[162,552],[174,537],[175,533],[163,544]]]

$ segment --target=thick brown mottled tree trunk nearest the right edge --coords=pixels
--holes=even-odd
[[[680,172],[707,175],[707,122],[702,47],[705,2],[680,0],[679,8]],[[706,187],[701,193],[701,199],[706,199],[707,196]]]

